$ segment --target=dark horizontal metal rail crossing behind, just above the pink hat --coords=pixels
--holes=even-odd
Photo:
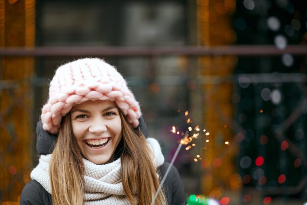
[[[276,56],[292,54],[307,55],[307,45],[288,45],[279,49],[274,45],[232,45],[232,46],[180,46],[180,47],[33,47],[33,48],[0,48],[0,56],[36,56],[36,57],[69,57],[69,56]]]

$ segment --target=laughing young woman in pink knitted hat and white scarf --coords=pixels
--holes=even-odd
[[[20,204],[150,205],[168,164],[158,142],[140,131],[140,117],[127,82],[102,59],[60,66],[39,130],[56,143],[41,155]],[[154,203],[166,204],[185,204],[174,167]]]

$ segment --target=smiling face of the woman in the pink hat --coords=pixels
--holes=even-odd
[[[83,156],[95,164],[112,162],[122,138],[122,122],[113,101],[86,101],[71,110],[73,133]]]

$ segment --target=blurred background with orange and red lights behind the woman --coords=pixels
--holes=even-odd
[[[167,161],[197,136],[175,160],[187,198],[303,205],[306,44],[306,0],[0,0],[0,203],[18,204],[38,162],[55,69],[99,57]]]

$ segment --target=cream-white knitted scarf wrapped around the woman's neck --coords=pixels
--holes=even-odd
[[[153,151],[152,160],[155,168],[164,162],[159,143],[148,138],[147,143]],[[49,162],[51,154],[41,155],[39,164],[31,172],[31,178],[38,181],[51,194]],[[94,164],[83,159],[84,173],[84,204],[85,205],[130,205],[125,196],[121,180],[121,159],[104,165]]]

